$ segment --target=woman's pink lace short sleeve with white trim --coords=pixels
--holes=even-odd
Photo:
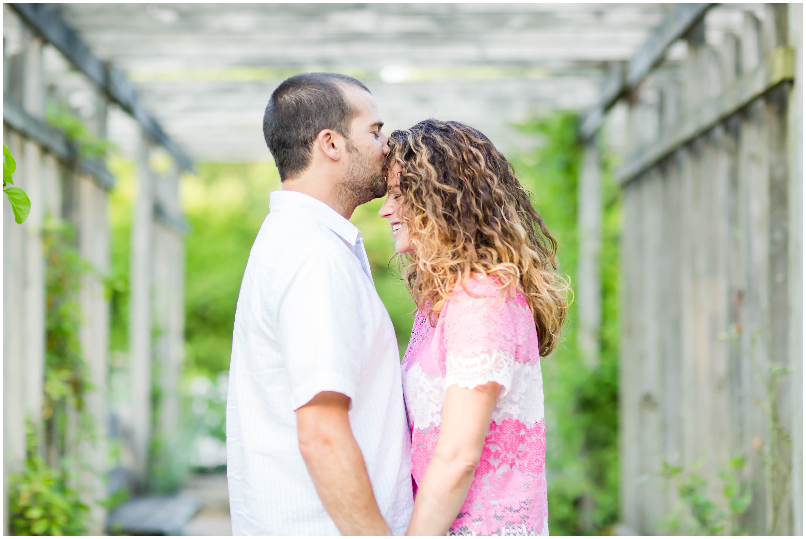
[[[513,317],[496,289],[474,288],[452,296],[440,315],[446,385],[496,382],[504,396],[512,387],[517,346]],[[479,292],[484,295],[476,297]]]

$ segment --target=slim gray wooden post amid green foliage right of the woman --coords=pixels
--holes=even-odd
[[[599,364],[599,326],[601,324],[601,283],[599,254],[602,233],[602,200],[599,138],[593,135],[584,148],[578,189],[580,259],[577,269],[576,303],[580,326],[577,336],[583,363],[590,369]]]

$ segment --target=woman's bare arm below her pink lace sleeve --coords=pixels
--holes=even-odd
[[[418,485],[406,535],[445,535],[451,529],[479,466],[500,388],[495,382],[447,388],[437,446]]]

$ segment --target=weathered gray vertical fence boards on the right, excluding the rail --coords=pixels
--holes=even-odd
[[[634,375],[622,374],[621,383],[634,387],[622,386],[621,398],[625,408],[641,410],[636,417],[622,408],[622,421],[634,423],[621,426],[622,443],[625,433],[639,431],[638,449],[629,446],[621,451],[622,466],[627,466],[622,471],[622,488],[627,489],[622,513],[625,524],[640,533],[655,533],[656,522],[651,520],[676,501],[673,492],[658,495],[651,480],[643,487],[630,483],[641,472],[657,471],[659,454],[702,475],[713,500],[722,498],[718,472],[725,470],[729,458],[743,454],[748,458],[744,477],[752,482],[754,496],[742,516],[743,529],[787,534],[802,525],[796,522],[800,508],[792,513],[792,500],[802,487],[792,480],[791,500],[775,494],[779,520],[772,529],[775,481],[771,482],[769,455],[775,439],[767,415],[771,396],[764,384],[768,368],[776,362],[789,362],[802,373],[802,333],[795,346],[791,336],[792,297],[800,304],[802,295],[802,285],[790,282],[791,257],[800,244],[793,247],[788,236],[795,226],[802,227],[802,215],[792,216],[800,211],[792,203],[792,193],[802,193],[797,183],[802,180],[798,176],[793,185],[796,172],[790,170],[793,126],[787,125],[786,115],[791,122],[791,106],[796,106],[787,102],[791,74],[774,88],[748,97],[735,114],[725,114],[675,143],[658,141],[654,117],[646,112],[654,86],[660,85],[660,132],[675,131],[668,119],[698,114],[703,103],[707,106],[715,96],[724,97],[725,87],[741,86],[749,73],[758,74],[765,64],[768,71],[793,73],[794,66],[788,68],[787,62],[799,53],[785,48],[791,39],[787,41],[782,30],[787,26],[782,12],[788,8],[764,9],[762,21],[748,12],[742,28],[729,30],[719,54],[705,44],[704,27],[690,33],[681,69],[681,99],[675,97],[674,70],[653,73],[631,96],[630,114],[639,125],[630,126],[628,147],[638,141],[643,147],[668,143],[664,159],[646,164],[636,181],[622,187],[622,264],[632,266],[622,267],[622,282],[630,288],[622,292],[622,316],[624,327],[634,329],[623,334],[630,342],[622,342],[621,368]],[[742,32],[741,40],[737,31]],[[777,65],[771,60],[776,56]],[[794,118],[802,129],[802,118]],[[632,206],[636,198],[641,199],[640,208]],[[663,252],[656,251],[656,245],[663,245]],[[800,251],[797,256],[802,263]],[[798,266],[799,278],[802,271]],[[798,293],[793,294],[793,288]],[[654,443],[656,427],[646,413],[657,357],[663,373],[658,390],[661,447]],[[635,379],[636,375],[642,378]],[[645,392],[644,399],[633,400],[639,391]],[[782,411],[796,411],[792,400],[802,403],[800,377],[797,382],[793,377],[775,396]],[[796,413],[802,417],[801,411]],[[782,417],[793,425],[793,448],[798,444],[802,448],[802,425],[795,425],[783,412]],[[801,430],[796,433],[797,428]],[[783,458],[788,462],[790,457],[784,452]],[[630,462],[633,459],[641,463],[639,470]],[[799,465],[793,460],[793,469]],[[778,492],[787,486],[784,479],[776,479]]]

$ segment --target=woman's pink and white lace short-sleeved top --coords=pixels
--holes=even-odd
[[[418,311],[403,358],[415,487],[434,454],[446,388],[497,382],[480,466],[448,535],[548,535],[543,383],[529,304],[521,292],[501,296],[486,278],[465,288],[435,328]]]

